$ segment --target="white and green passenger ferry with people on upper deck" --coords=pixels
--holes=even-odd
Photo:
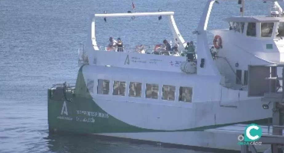
[[[214,3],[222,4],[206,3],[193,32],[196,50],[190,53],[184,51],[187,43],[174,12],[94,14],[86,49],[79,50],[76,86],[55,84],[48,89],[50,132],[240,150],[237,137],[244,124],[272,117],[271,108],[262,107],[267,104],[261,102],[268,84],[264,78],[270,71],[261,65],[284,61],[284,18],[273,1],[268,16],[244,16],[242,11],[240,17],[225,19],[228,29],[209,31]],[[168,17],[171,47],[179,44],[176,50],[98,46],[97,18],[136,16]],[[209,40],[206,32],[214,39]],[[277,84],[270,87],[279,89]]]

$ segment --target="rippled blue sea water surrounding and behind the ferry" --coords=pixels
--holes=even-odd
[[[174,11],[183,38],[187,42],[196,40],[192,31],[198,25],[206,0],[134,0],[134,3],[138,12],[159,8]],[[201,152],[48,132],[47,88],[64,81],[75,82],[78,47],[86,42],[89,15],[127,12],[131,4],[131,0],[0,1],[0,153]],[[246,15],[265,15],[267,5],[271,3],[247,1]],[[237,1],[220,0],[213,7],[208,28],[228,28],[222,19],[238,16],[239,7]],[[156,17],[108,18],[107,22],[97,19],[98,45],[106,45],[110,36],[121,37],[126,45],[157,44],[171,39],[166,18],[161,21]]]

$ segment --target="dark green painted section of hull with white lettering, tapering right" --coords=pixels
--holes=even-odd
[[[84,66],[84,65],[83,65]],[[102,110],[87,91],[82,68],[80,67],[76,81],[75,94],[67,95],[73,98],[72,102],[57,101],[48,96],[48,124],[50,130],[79,132],[79,133],[126,133],[126,132],[170,132],[170,131],[203,131],[237,123],[210,125],[183,130],[152,130],[129,125],[114,118]],[[50,95],[50,90],[48,91]],[[67,115],[66,115],[67,114]],[[267,123],[267,119],[257,121],[238,122],[244,124]]]

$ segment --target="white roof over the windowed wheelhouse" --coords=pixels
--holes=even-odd
[[[224,21],[228,22],[284,22],[284,17],[266,17],[266,16],[250,16],[250,17],[227,17]]]

